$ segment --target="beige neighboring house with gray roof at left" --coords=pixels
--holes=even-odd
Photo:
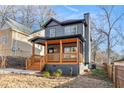
[[[32,44],[28,40],[34,34],[30,28],[7,18],[4,26],[0,29],[0,56],[9,57],[9,61],[16,57],[30,57],[32,55]],[[36,45],[35,48],[35,53],[40,55],[41,48],[39,45]]]

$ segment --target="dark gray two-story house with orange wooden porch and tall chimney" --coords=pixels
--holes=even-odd
[[[81,74],[90,63],[89,13],[84,14],[84,19],[63,22],[51,18],[43,28],[45,37],[32,38],[30,41],[33,47],[35,44],[45,47],[44,56],[38,58],[33,48],[33,56],[28,60],[27,69],[43,70],[45,67],[45,70],[51,72],[61,69],[66,75]]]

